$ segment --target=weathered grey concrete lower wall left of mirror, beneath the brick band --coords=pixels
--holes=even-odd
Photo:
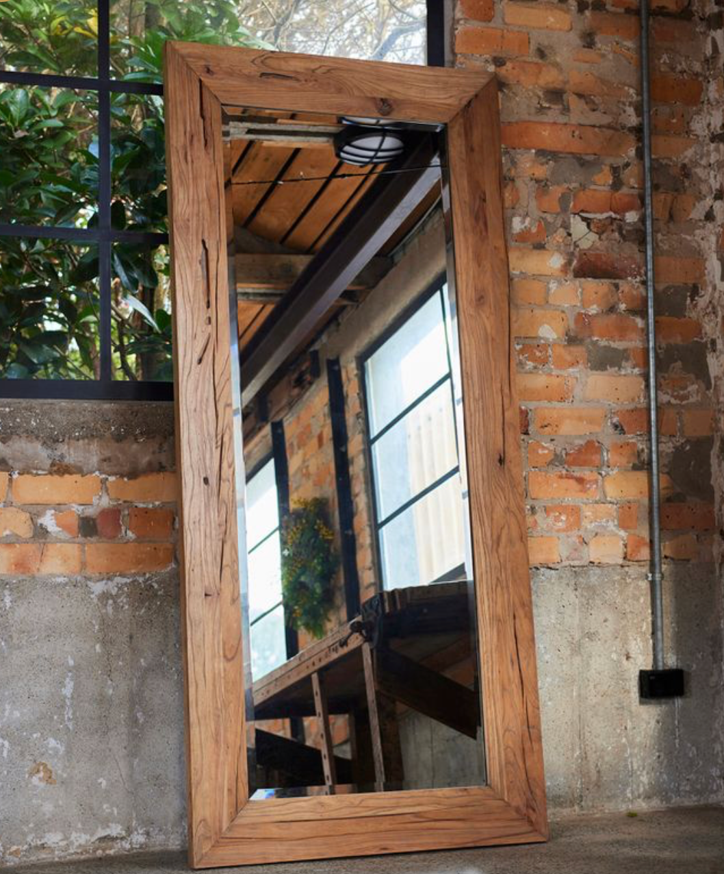
[[[0,583],[0,864],[179,847],[176,572]]]

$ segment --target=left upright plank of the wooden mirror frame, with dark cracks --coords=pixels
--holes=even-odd
[[[166,58],[190,858],[245,801],[221,106]],[[179,390],[179,387],[181,389]]]

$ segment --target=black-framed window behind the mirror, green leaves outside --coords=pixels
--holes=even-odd
[[[172,397],[166,38],[439,65],[442,8],[3,0],[0,397]]]

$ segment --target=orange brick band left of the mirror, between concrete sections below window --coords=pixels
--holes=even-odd
[[[176,475],[0,474],[0,574],[150,573],[174,561]]]

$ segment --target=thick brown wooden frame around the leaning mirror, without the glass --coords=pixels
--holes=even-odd
[[[545,840],[493,75],[167,43],[165,95],[190,864]],[[224,104],[447,125],[485,787],[248,800]]]

